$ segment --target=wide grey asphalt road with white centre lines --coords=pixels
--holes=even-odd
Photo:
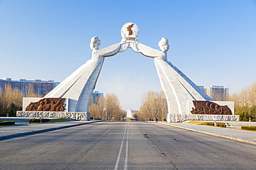
[[[99,122],[0,140],[0,169],[255,169],[256,146],[157,123]]]

